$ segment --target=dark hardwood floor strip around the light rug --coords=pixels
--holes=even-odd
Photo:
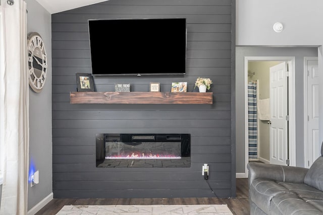
[[[64,205],[116,205],[116,204],[227,204],[233,214],[250,214],[248,179],[238,178],[235,198],[56,198],[41,208],[36,215],[56,214]]]

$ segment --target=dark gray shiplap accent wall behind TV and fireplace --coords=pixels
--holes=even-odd
[[[52,15],[52,145],[54,198],[220,197],[235,195],[231,138],[231,0],[111,0]],[[131,83],[148,92],[159,82],[213,81],[213,105],[70,104],[75,73],[91,73],[88,19],[187,19],[187,72],[182,77],[94,77],[97,91]],[[103,50],[104,52],[104,50]],[[127,63],[127,62],[125,62]],[[104,68],[102,68],[104,69]],[[190,168],[96,168],[95,133],[190,133]]]

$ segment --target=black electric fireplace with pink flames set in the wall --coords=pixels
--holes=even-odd
[[[190,166],[190,134],[96,134],[96,167]]]

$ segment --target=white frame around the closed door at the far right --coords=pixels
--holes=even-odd
[[[305,168],[309,168],[308,167],[308,121],[307,121],[307,116],[308,116],[308,104],[307,104],[307,66],[308,60],[316,60],[318,63],[318,57],[304,57],[304,166]]]

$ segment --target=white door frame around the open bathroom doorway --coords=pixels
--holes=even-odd
[[[248,61],[287,61],[289,64],[288,78],[288,155],[290,166],[296,166],[296,110],[295,110],[295,56],[245,56],[244,57],[244,146],[245,146],[245,177],[248,177]]]

